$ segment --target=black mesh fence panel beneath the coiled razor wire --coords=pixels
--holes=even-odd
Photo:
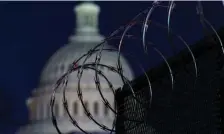
[[[169,73],[158,78],[149,73],[153,91],[151,107],[146,79],[134,82],[136,99],[129,88],[124,86],[118,90],[116,134],[221,134],[217,105],[220,81],[216,75],[221,74],[222,69],[217,64],[217,54],[209,50],[197,56],[197,79],[193,64],[172,66],[173,90]],[[157,70],[164,72],[164,69],[168,72],[167,68]]]

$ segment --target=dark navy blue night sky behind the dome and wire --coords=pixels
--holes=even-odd
[[[56,50],[68,43],[68,37],[74,33],[73,7],[77,3],[0,2],[0,134],[13,134],[28,122],[25,100],[38,86],[44,64]],[[151,5],[151,2],[96,3],[101,7],[100,31],[105,36]],[[204,36],[196,4],[177,2],[171,18],[173,30],[189,44]],[[203,2],[203,7],[205,17],[216,29],[224,26],[221,2]],[[158,8],[152,18],[166,25],[167,9]],[[131,31],[137,37],[141,36],[140,32],[141,27]],[[167,31],[153,27],[149,28],[147,40],[155,42],[166,56],[170,56],[166,36]],[[178,40],[174,39],[174,42],[178,49],[184,48]],[[155,52],[144,56],[140,42],[126,41],[125,45],[124,52],[134,53],[146,69],[161,61]],[[128,60],[135,74],[141,74],[131,58]]]

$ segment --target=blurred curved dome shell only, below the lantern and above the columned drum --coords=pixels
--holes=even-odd
[[[100,38],[99,38],[100,39]],[[96,42],[70,42],[70,44],[62,47],[59,49],[49,60],[49,62],[46,64],[46,66],[43,69],[43,72],[41,74],[40,84],[39,86],[43,88],[46,88],[46,90],[50,89],[49,86],[52,86],[52,84],[55,84],[56,81],[65,73],[67,72],[68,68],[70,67],[71,63],[81,57],[83,54],[87,53],[91,48],[93,48],[95,45],[102,42],[102,40],[98,40]],[[105,44],[104,48],[113,49],[108,44]],[[92,63],[95,61],[96,54],[93,54],[86,63]],[[113,67],[117,66],[117,58],[118,54],[116,52],[108,52],[103,51],[102,57],[101,57],[101,64],[110,65]],[[83,58],[85,59],[85,58]],[[83,60],[79,62],[81,65],[83,63]],[[128,65],[128,62],[121,57],[121,64],[122,68],[124,69],[124,76],[127,78],[132,78],[133,73]],[[107,76],[107,78],[113,83],[115,87],[120,87],[122,85],[122,81],[118,77],[118,74],[111,72],[108,68],[102,68],[100,67],[100,70],[104,72],[104,74]],[[117,76],[116,76],[117,75]],[[94,83],[94,76],[95,71],[93,70],[84,70],[83,76],[82,76],[82,86],[93,86],[95,87]],[[77,73],[74,72],[69,76],[70,82],[68,83],[69,87],[74,87],[74,84],[77,84]],[[104,82],[105,83],[105,82]],[[92,84],[92,85],[91,85]],[[103,83],[102,83],[103,84]],[[90,87],[83,87],[83,88],[90,88]]]

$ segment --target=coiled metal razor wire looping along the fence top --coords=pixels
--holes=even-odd
[[[69,109],[68,109],[68,103],[67,103],[67,99],[66,99],[66,86],[68,84],[68,77],[73,72],[77,72],[77,78],[78,78],[77,95],[78,95],[78,99],[80,100],[80,102],[82,104],[82,107],[83,107],[83,109],[85,111],[85,114],[87,115],[87,117],[91,121],[93,121],[95,124],[97,124],[99,126],[99,128],[101,128],[101,129],[103,129],[105,131],[108,131],[110,133],[115,132],[115,124],[116,124],[117,114],[118,113],[117,113],[117,110],[116,110],[117,109],[117,107],[116,107],[116,100],[114,100],[115,101],[115,108],[112,108],[112,106],[108,102],[107,98],[105,98],[103,96],[103,93],[101,91],[101,86],[100,86],[101,83],[100,83],[100,80],[99,80],[99,76],[101,76],[103,79],[106,80],[106,82],[107,82],[107,84],[109,86],[109,89],[112,91],[113,94],[115,94],[115,91],[117,89],[114,88],[113,83],[111,83],[109,81],[109,79],[99,69],[99,67],[105,67],[109,71],[116,73],[121,78],[123,85],[128,85],[129,86],[129,89],[131,90],[131,93],[133,94],[133,97],[135,99],[135,103],[146,103],[146,102],[142,102],[141,100],[137,99],[137,97],[135,97],[136,93],[134,92],[134,90],[132,88],[131,81],[127,77],[125,77],[124,74],[123,74],[123,68],[122,68],[122,64],[121,64],[121,60],[120,59],[121,59],[122,46],[124,44],[123,42],[126,39],[141,41],[143,50],[144,50],[146,55],[148,54],[148,49],[151,48],[163,59],[163,61],[166,63],[166,66],[167,66],[167,68],[169,70],[172,90],[174,89],[174,86],[175,86],[175,74],[173,73],[172,68],[171,68],[168,60],[164,56],[163,52],[161,52],[157,48],[157,45],[155,43],[147,41],[147,39],[146,39],[146,33],[150,30],[149,26],[158,27],[158,29],[163,29],[163,30],[167,31],[167,40],[168,40],[169,45],[172,48],[174,53],[176,53],[176,48],[175,48],[175,45],[173,43],[173,38],[179,39],[182,42],[182,44],[187,48],[187,50],[189,51],[189,54],[192,57],[192,61],[193,61],[193,64],[194,64],[194,70],[195,70],[194,76],[195,76],[195,83],[196,83],[196,80],[197,80],[199,75],[198,75],[198,67],[197,67],[196,59],[194,57],[194,53],[192,52],[191,48],[189,47],[188,43],[184,40],[184,38],[181,37],[180,35],[176,34],[172,30],[172,27],[171,27],[171,15],[172,15],[172,12],[173,12],[173,10],[175,9],[176,6],[177,6],[177,4],[174,1],[170,1],[168,3],[168,5],[163,4],[163,2],[161,2],[161,1],[154,1],[150,7],[148,7],[147,9],[143,10],[138,15],[136,15],[129,23],[127,23],[126,25],[121,26],[118,29],[116,29],[114,32],[112,32],[110,34],[110,36],[106,37],[105,40],[103,40],[100,44],[97,44],[95,47],[90,49],[88,52],[83,54],[81,57],[79,57],[77,60],[75,60],[71,64],[71,66],[67,70],[67,72],[63,76],[61,76],[57,80],[56,84],[54,85],[53,93],[52,93],[51,100],[50,100],[52,123],[53,123],[54,127],[56,128],[56,130],[57,130],[57,132],[59,134],[63,134],[63,132],[61,132],[61,130],[59,129],[58,121],[57,121],[55,113],[54,113],[55,94],[56,94],[57,90],[59,90],[59,87],[62,87],[62,91],[63,91],[63,106],[64,106],[65,111],[67,112],[67,115],[70,118],[71,123],[74,125],[74,127],[77,127],[83,133],[91,134],[91,133],[86,132],[83,128],[81,128],[79,126],[78,122],[72,117],[72,115],[71,115],[71,113],[69,112]],[[159,7],[167,9],[167,24],[166,25],[162,25],[162,24],[160,24],[160,23],[158,23],[158,22],[156,22],[156,21],[154,21],[152,19],[153,12],[155,10],[158,10]],[[198,1],[198,3],[197,3],[196,10],[197,10],[197,14],[199,16],[199,20],[201,22],[201,25],[203,26],[203,29],[208,31],[208,29],[210,28],[212,30],[212,32],[215,34],[216,38],[218,39],[218,42],[219,42],[221,50],[222,50],[222,54],[224,54],[224,48],[223,48],[222,41],[221,41],[218,33],[216,32],[215,28],[211,25],[211,23],[204,16],[202,3],[200,1]],[[140,19],[141,17],[143,17],[143,19]],[[141,33],[142,37],[137,37],[137,35],[129,35],[128,34],[128,31],[130,31],[130,29],[132,29],[136,25],[142,26],[142,33]],[[207,35],[208,33],[206,32],[205,34]],[[114,39],[116,39],[116,40],[119,39],[118,49],[105,49],[104,48],[105,42],[110,41],[110,40],[114,40]],[[106,64],[101,64],[100,63],[103,51],[114,52],[114,53],[118,54],[117,66],[110,66],[110,65],[106,65]],[[95,62],[86,63],[87,60],[91,56],[93,56],[94,54],[96,55],[95,56]],[[145,75],[145,77],[147,79],[147,83],[148,83],[149,90],[150,90],[150,97],[151,97],[150,100],[149,100],[149,104],[151,105],[151,103],[153,101],[152,100],[153,92],[152,92],[150,78],[147,75],[147,73],[144,70],[144,68],[142,67],[142,65],[140,64],[140,62],[138,60],[136,60],[136,57],[133,56],[133,54],[131,54],[131,53],[129,53],[127,55],[132,57],[133,59],[135,59],[135,62],[137,63],[137,65],[139,66],[140,70],[143,72],[143,74]],[[83,61],[81,62],[81,60],[83,60]],[[182,60],[182,62],[184,63],[184,60]],[[83,93],[82,93],[82,89],[81,89],[80,83],[81,83],[81,78],[82,78],[83,72],[86,69],[90,69],[90,70],[95,71],[94,81],[95,81],[96,89],[99,92],[104,105],[115,114],[115,118],[113,120],[113,125],[111,126],[111,128],[105,126],[104,124],[99,123],[96,119],[94,119],[94,116],[90,113],[90,111],[88,111],[87,107],[84,104]],[[120,88],[120,89],[122,89],[122,88]],[[144,120],[136,121],[136,120],[132,120],[132,119],[129,119],[129,118],[125,118],[125,119],[129,120],[129,121],[139,122],[139,123],[144,122]]]

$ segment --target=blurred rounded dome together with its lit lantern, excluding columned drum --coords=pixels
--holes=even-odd
[[[97,28],[99,10],[100,8],[92,2],[84,2],[75,8],[77,14],[76,34],[70,37],[69,44],[63,46],[50,58],[41,74],[40,87],[43,87],[46,90],[50,89],[49,86],[52,86],[52,84],[67,71],[74,60],[81,57],[91,48],[103,41],[104,37],[99,35]],[[111,47],[105,44],[105,48]],[[116,67],[117,57],[118,55],[116,52],[104,51],[100,63]],[[95,55],[93,55],[87,62],[94,61]],[[132,78],[133,73],[127,61],[123,57],[121,57],[121,61],[125,76],[127,78]],[[79,64],[82,64],[82,62],[79,62]],[[118,76],[115,77],[113,72],[109,71],[107,68],[104,68],[102,71],[105,72],[105,75],[113,85],[116,85],[117,87],[122,85],[120,79],[117,78]],[[83,88],[90,88],[91,86],[92,88],[95,88],[93,81],[94,76],[94,71],[84,72],[82,77]],[[74,84],[77,83],[77,73],[73,73],[69,79],[69,86],[74,88]]]

